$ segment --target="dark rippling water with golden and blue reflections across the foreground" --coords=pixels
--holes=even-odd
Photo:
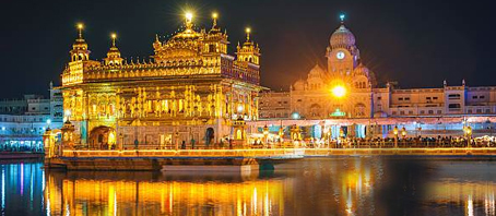
[[[496,215],[496,160],[310,158],[256,173],[3,163],[2,215]]]

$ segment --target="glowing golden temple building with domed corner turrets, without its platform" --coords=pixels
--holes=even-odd
[[[233,120],[258,119],[260,48],[249,29],[229,55],[216,15],[210,29],[196,29],[189,14],[180,33],[166,40],[156,36],[150,60],[125,60],[111,35],[99,62],[90,58],[83,26],[78,28],[60,87],[76,144],[168,147],[194,140],[209,145],[232,136]]]

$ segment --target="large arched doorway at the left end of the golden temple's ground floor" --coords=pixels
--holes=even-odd
[[[111,127],[99,125],[90,132],[87,139],[90,148],[113,149],[116,146],[116,130]]]

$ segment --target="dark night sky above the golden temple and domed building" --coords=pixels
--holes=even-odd
[[[197,26],[211,26],[212,11],[227,28],[234,52],[245,26],[262,49],[262,84],[287,88],[317,62],[324,63],[339,13],[355,34],[362,60],[379,82],[402,87],[496,85],[496,13],[491,1],[459,0],[2,0],[0,4],[0,98],[47,94],[60,84],[84,22],[92,59],[119,35],[123,57],[149,57],[154,35],[174,33],[185,8],[196,9]]]

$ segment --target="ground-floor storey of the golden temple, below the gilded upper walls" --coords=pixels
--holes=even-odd
[[[92,149],[174,149],[198,148],[223,145],[228,147],[229,140],[236,140],[235,128],[231,120],[211,119],[196,124],[109,124],[106,122],[73,121],[74,147]],[[125,125],[120,125],[125,124]],[[91,128],[91,129],[88,129]],[[250,132],[250,129],[245,129]],[[234,141],[232,141],[234,142]],[[234,142],[233,144],[239,144]],[[186,146],[187,145],[187,146]]]

